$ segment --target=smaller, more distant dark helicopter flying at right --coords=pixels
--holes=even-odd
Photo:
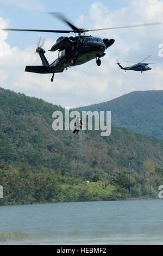
[[[147,71],[147,70],[152,69],[152,68],[149,68],[148,64],[154,64],[154,63],[142,63],[143,61],[145,61],[149,57],[151,57],[151,55],[149,55],[147,58],[143,59],[141,62],[131,62],[131,63],[136,63],[133,66],[126,66],[125,68],[123,68],[123,66],[121,66],[119,62],[117,62],[117,65],[120,67],[120,69],[125,70],[125,72],[127,70],[134,70],[134,71],[141,71],[141,73],[142,73],[143,71]],[[125,61],[128,62],[127,60],[125,60]]]

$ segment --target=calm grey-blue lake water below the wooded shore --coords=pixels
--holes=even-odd
[[[0,245],[163,245],[163,199],[0,206]]]

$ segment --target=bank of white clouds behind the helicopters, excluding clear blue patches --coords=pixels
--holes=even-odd
[[[30,2],[30,1],[29,1]],[[17,2],[18,3],[18,2]],[[133,0],[126,8],[110,10],[102,2],[93,3],[87,16],[81,15],[78,27],[105,28],[140,23],[163,22],[163,1]],[[0,18],[1,24],[8,21]],[[163,57],[158,56],[158,45],[163,43],[162,25],[128,29],[111,29],[94,32],[103,38],[114,38],[115,44],[106,50],[102,65],[95,60],[84,65],[74,66],[63,73],[51,75],[30,74],[24,72],[26,65],[41,65],[39,56],[32,57],[36,45],[27,46],[21,51],[11,48],[5,40],[7,32],[0,31],[0,76],[1,86],[26,93],[61,106],[82,106],[111,100],[134,90],[163,89]],[[57,39],[57,36],[55,36]],[[46,56],[49,62],[57,58],[57,52],[48,52],[54,40],[45,42]],[[2,46],[3,45],[3,46]],[[3,54],[2,54],[3,47]],[[152,70],[143,72],[118,71],[117,59],[139,62],[152,54],[149,62],[155,62]]]

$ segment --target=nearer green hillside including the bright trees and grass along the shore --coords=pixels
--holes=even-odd
[[[109,137],[54,131],[54,111],[64,113],[60,106],[0,88],[0,205],[125,199],[130,186],[131,196],[157,194],[163,140],[114,125]],[[93,193],[84,182],[92,175]]]

